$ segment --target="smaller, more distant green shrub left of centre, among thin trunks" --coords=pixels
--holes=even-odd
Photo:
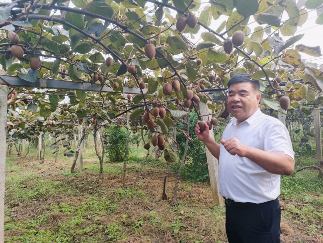
[[[106,151],[105,154],[110,161],[123,161],[128,139],[126,128],[111,124],[103,130],[102,135],[104,139],[104,149]]]

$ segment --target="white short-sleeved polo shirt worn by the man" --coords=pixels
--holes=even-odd
[[[222,139],[236,137],[243,144],[264,151],[282,152],[294,159],[294,151],[287,128],[276,118],[258,109],[251,117],[237,125],[230,120]],[[231,155],[220,144],[220,194],[235,202],[264,203],[280,194],[280,175],[272,174],[247,158]]]

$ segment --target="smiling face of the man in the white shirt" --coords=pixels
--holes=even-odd
[[[260,98],[250,82],[234,83],[228,93],[228,110],[239,123],[244,122],[257,111]]]

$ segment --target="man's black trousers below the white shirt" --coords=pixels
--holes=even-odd
[[[280,204],[226,202],[226,232],[229,243],[279,243]]]

